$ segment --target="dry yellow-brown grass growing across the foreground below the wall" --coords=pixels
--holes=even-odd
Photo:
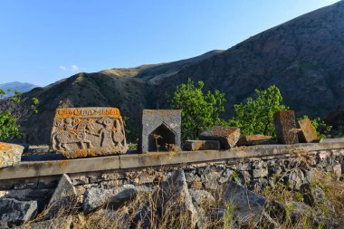
[[[292,170],[292,169],[291,169]],[[222,196],[223,190],[216,190],[212,193],[215,196],[215,202],[205,201],[196,206],[196,210],[201,215],[200,228],[323,228],[322,224],[314,225],[311,223],[311,215],[308,213],[301,215],[296,221],[292,213],[298,209],[290,205],[292,201],[302,202],[301,193],[294,192],[290,186],[282,182],[282,177],[288,173],[276,177],[275,186],[269,186],[261,193],[267,198],[267,205],[263,209],[262,215],[256,215],[250,224],[243,225],[243,219],[235,218],[234,211],[236,206],[231,200],[225,200]],[[159,185],[159,184],[158,184]],[[311,186],[319,186],[324,190],[326,196],[330,199],[338,215],[339,224],[344,224],[344,182],[336,181],[334,177],[320,172],[314,174],[314,180]],[[158,188],[158,186],[156,186]],[[90,214],[81,213],[80,204],[73,205],[73,209],[62,207],[59,209],[55,219],[49,228],[62,228],[63,222],[60,220],[66,215],[72,215],[72,228],[75,229],[98,229],[98,228],[191,228],[191,215],[184,202],[183,196],[169,196],[165,199],[165,205],[161,205],[161,198],[158,192],[139,193],[128,205],[124,205],[117,210],[112,210],[104,206],[102,209]],[[281,202],[285,208],[276,210],[273,205],[275,201]],[[321,209],[322,206],[317,206]],[[203,209],[203,210],[202,210]],[[316,210],[316,209],[313,209]],[[37,215],[37,218],[27,224],[42,221],[45,218],[46,211]],[[328,215],[329,217],[331,215]]]

